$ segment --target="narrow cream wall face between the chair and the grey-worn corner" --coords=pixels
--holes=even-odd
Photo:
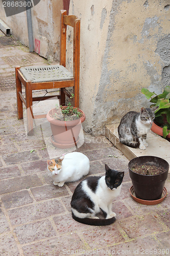
[[[82,1],[81,5],[79,1],[73,0],[70,1],[69,5],[69,14],[75,14],[81,18],[80,108],[86,114],[83,127],[87,132],[91,132],[95,116],[95,102],[99,98],[98,91],[100,89],[111,7],[112,1],[108,0],[100,0],[98,3],[94,0]],[[67,61],[67,65],[69,66],[69,61]],[[101,111],[104,107],[103,104],[104,102],[101,101]],[[101,118],[99,116],[100,121]],[[101,125],[103,124],[101,123]]]

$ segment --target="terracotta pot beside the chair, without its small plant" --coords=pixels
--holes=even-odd
[[[78,109],[79,112],[83,113],[81,118],[73,121],[61,121],[50,116],[55,113],[55,111],[56,109],[52,109],[46,115],[46,119],[51,124],[53,134],[51,141],[53,145],[59,148],[69,148],[76,145],[79,140],[81,124],[86,118],[84,112]]]

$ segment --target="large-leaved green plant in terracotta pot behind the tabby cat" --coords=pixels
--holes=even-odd
[[[152,106],[158,106],[155,111],[155,119],[152,124],[151,130],[163,136],[163,138],[170,138],[170,86],[165,87],[163,93],[156,94],[155,92],[150,92],[146,88],[142,88],[141,92],[150,99],[151,108]]]

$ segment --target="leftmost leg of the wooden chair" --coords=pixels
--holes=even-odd
[[[19,92],[22,93],[21,81],[18,78],[18,70],[20,67],[15,67],[15,80],[16,80],[16,99],[17,99],[17,115],[18,119],[23,118],[22,100],[19,97]]]

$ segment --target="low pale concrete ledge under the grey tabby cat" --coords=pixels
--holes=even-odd
[[[105,136],[129,160],[139,156],[156,156],[165,159],[170,165],[170,142],[160,136],[155,135],[151,131],[147,135],[147,143],[149,144],[149,146],[145,150],[140,150],[139,148],[132,148],[119,142],[117,127],[118,123],[106,125]]]

